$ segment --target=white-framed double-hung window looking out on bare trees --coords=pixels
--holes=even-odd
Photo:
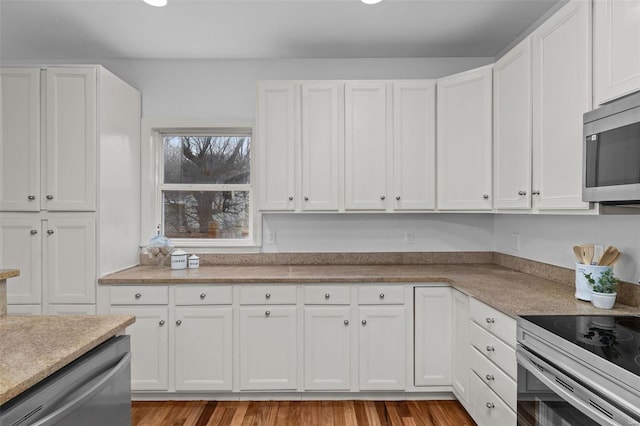
[[[159,225],[176,247],[203,252],[256,247],[252,128],[159,125],[147,131],[156,185],[146,215],[143,197],[145,233]],[[144,151],[143,144],[143,173]],[[143,190],[144,182],[143,176]]]

